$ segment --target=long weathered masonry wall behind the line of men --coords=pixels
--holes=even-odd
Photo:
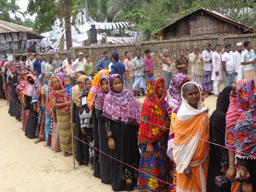
[[[170,57],[173,58],[172,66],[173,66],[173,74],[177,73],[177,69],[175,68],[175,59],[179,56],[179,49],[185,50],[185,56],[187,57],[189,53],[193,52],[193,46],[197,45],[200,49],[200,53],[205,50],[204,45],[206,43],[212,44],[212,51],[215,51],[215,45],[222,45],[222,52],[224,52],[224,45],[229,43],[232,45],[233,52],[236,51],[236,44],[238,42],[250,41],[252,44],[252,49],[256,49],[256,34],[246,34],[246,35],[225,35],[225,36],[211,36],[211,37],[201,37],[201,38],[177,38],[172,40],[162,40],[162,41],[145,41],[145,42],[137,42],[137,43],[129,43],[129,44],[112,44],[112,45],[99,45],[99,46],[87,46],[87,47],[72,47],[70,49],[71,56],[73,61],[77,58],[79,52],[83,52],[85,55],[91,56],[91,61],[93,62],[94,71],[96,74],[96,63],[99,60],[99,55],[107,50],[109,52],[109,56],[113,52],[118,52],[119,55],[125,54],[125,51],[130,51],[132,58],[134,58],[135,50],[140,50],[142,52],[141,56],[145,58],[144,50],[151,50],[151,57],[153,58],[153,63],[155,67],[155,76],[162,76],[162,57],[163,57],[163,49],[168,49],[170,52]],[[58,52],[60,55],[60,59],[63,60],[66,58],[66,52]],[[39,53],[40,55],[51,55],[54,58],[54,53]],[[28,54],[22,54],[28,55]],[[125,57],[124,57],[125,58]],[[189,77],[191,77],[191,68],[189,64]]]

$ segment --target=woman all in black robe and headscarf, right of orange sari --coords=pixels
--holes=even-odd
[[[231,183],[222,166],[229,166],[228,150],[225,146],[226,113],[230,104],[233,86],[225,87],[218,96],[216,110],[210,117],[210,151],[206,191],[230,191]],[[219,146],[221,145],[221,146]]]

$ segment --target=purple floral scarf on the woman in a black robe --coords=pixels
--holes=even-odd
[[[135,99],[130,90],[122,89],[119,92],[113,90],[112,84],[117,77],[123,84],[123,79],[118,74],[113,74],[109,78],[109,92],[105,96],[103,116],[116,122],[139,126],[141,103]]]

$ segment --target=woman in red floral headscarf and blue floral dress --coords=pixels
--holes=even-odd
[[[164,79],[151,77],[148,80],[147,92],[148,96],[141,107],[138,138],[142,142],[141,172],[138,175],[137,191],[167,192],[170,164],[167,156],[169,119],[165,103]]]

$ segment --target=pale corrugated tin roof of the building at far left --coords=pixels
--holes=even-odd
[[[25,27],[25,26],[0,20],[0,33],[9,33],[9,32],[32,32],[32,29],[29,27]]]

